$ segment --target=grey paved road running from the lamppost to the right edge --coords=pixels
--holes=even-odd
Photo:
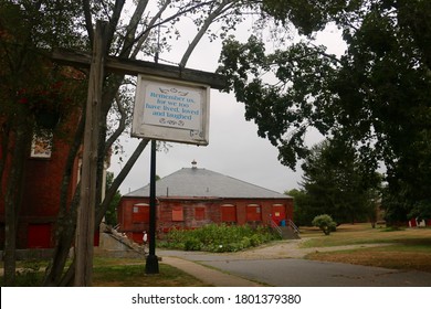
[[[272,252],[274,248],[272,248]],[[276,287],[431,287],[431,274],[257,254],[161,251],[245,279]]]

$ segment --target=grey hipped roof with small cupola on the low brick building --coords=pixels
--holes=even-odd
[[[156,182],[157,198],[292,199],[292,196],[200,168],[183,168]],[[149,184],[125,196],[149,196]]]

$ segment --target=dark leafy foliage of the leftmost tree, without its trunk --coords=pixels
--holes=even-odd
[[[49,49],[80,42],[73,14],[77,14],[76,1],[0,3],[0,115],[13,115],[8,119],[12,124],[14,118],[23,119],[15,126],[31,125],[29,114],[60,111],[65,118],[76,108],[77,76],[46,56]]]

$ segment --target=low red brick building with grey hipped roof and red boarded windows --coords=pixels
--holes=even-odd
[[[209,223],[277,224],[293,221],[293,199],[221,173],[183,168],[156,182],[157,231],[197,228]],[[119,232],[140,243],[149,230],[149,185],[124,195]]]

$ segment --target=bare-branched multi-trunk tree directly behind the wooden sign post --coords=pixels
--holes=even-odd
[[[241,8],[251,8],[250,3],[242,1],[161,1],[155,7],[150,7],[148,1],[137,1],[133,7],[132,18],[129,20],[122,20],[122,12],[124,9],[124,1],[117,0],[103,3],[105,6],[83,1],[83,12],[85,17],[85,29],[88,33],[90,43],[93,38],[93,18],[106,15],[109,20],[108,39],[106,41],[106,50],[111,51],[111,55],[117,55],[122,58],[136,58],[141,55],[149,55],[151,58],[160,61],[160,50],[170,49],[168,38],[177,35],[176,25],[182,18],[192,17],[195,23],[198,25],[196,39],[192,40],[189,47],[185,52],[179,66],[183,67],[202,35],[209,31],[209,26],[214,23],[224,23],[228,26],[234,28],[241,21]],[[124,25],[124,24],[125,25]],[[164,29],[165,35],[158,40],[159,25],[167,25]],[[227,28],[225,30],[229,30]],[[112,103],[117,96],[118,89],[126,81],[124,75],[107,75],[105,78],[105,87],[103,93],[102,109],[103,116],[101,124],[106,124],[105,120]],[[118,104],[117,104],[118,105]],[[120,108],[118,108],[120,109]],[[124,119],[122,117],[122,119]],[[99,151],[98,151],[98,179],[102,175],[103,160],[113,145],[112,142],[120,135],[125,126],[124,121],[119,121],[118,128],[115,132],[107,137],[107,128],[101,129],[99,136]],[[122,129],[120,129],[122,127]],[[106,198],[96,207],[96,224],[99,223],[109,204],[109,200],[115,195],[118,185],[133,167],[139,153],[143,151],[148,140],[141,140],[134,154],[128,160],[128,163],[122,172],[114,180],[113,185],[106,193]],[[102,190],[98,183],[98,191]],[[74,276],[74,265],[69,268],[63,276],[63,268],[69,254],[70,245],[73,241],[74,224],[76,221],[76,207],[71,207],[62,221],[62,226],[66,226],[57,236],[57,246],[54,254],[54,259],[49,267],[45,278],[45,285],[67,285],[72,281]]]

